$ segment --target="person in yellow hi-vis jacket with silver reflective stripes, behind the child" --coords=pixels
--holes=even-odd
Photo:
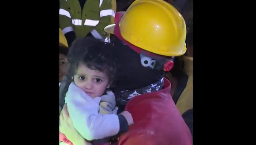
[[[76,37],[92,35],[109,42],[106,25],[114,23],[115,0],[60,0],[60,29],[71,46]]]

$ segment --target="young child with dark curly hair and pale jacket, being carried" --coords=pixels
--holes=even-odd
[[[113,57],[112,50],[111,44],[85,38],[76,40],[68,54],[69,76],[72,76],[74,81],[69,85],[65,101],[73,126],[89,141],[123,133],[128,130],[128,125],[133,123],[132,116],[113,114],[117,112],[117,108],[112,92],[104,95],[104,99],[109,101],[108,105],[113,106],[112,110],[108,112],[100,107],[100,96],[106,89],[113,87],[116,73],[116,58]],[[99,111],[110,114],[102,115]],[[72,145],[61,133],[60,141]],[[100,143],[96,141],[92,143],[105,143],[101,142],[102,140]]]

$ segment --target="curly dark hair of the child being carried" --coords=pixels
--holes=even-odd
[[[110,88],[114,87],[117,57],[113,53],[112,44],[90,37],[76,39],[70,47],[67,58],[70,63],[69,77],[74,76],[79,63],[83,63],[89,69],[106,73],[109,77]]]

